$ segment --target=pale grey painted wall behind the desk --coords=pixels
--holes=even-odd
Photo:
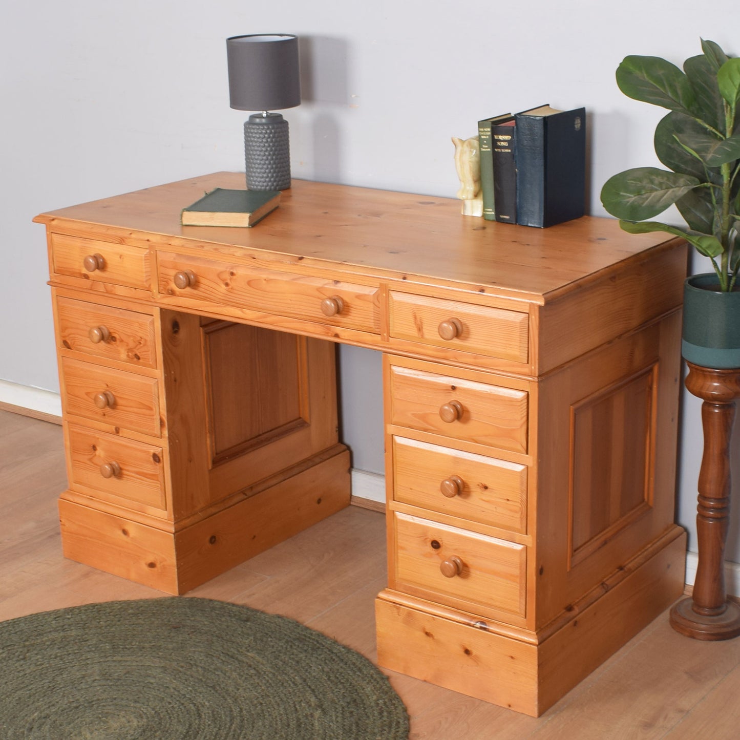
[[[47,260],[33,215],[166,181],[243,169],[224,39],[301,37],[304,102],[285,113],[296,177],[454,195],[451,135],[549,102],[585,105],[591,212],[614,172],[657,165],[662,115],[625,98],[627,54],[681,62],[699,36],[740,53],[734,0],[40,0],[15,4],[0,46],[0,379],[58,389]],[[454,255],[454,245],[451,245]],[[383,470],[380,357],[340,350],[343,434],[359,468]],[[692,533],[702,449],[684,394],[679,519]],[[736,456],[738,457],[738,456]],[[736,480],[738,477],[736,476]],[[740,507],[736,507],[737,510]],[[740,561],[739,521],[728,556]]]

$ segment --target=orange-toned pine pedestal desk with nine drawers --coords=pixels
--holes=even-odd
[[[683,590],[686,246],[303,181],[252,229],[180,225],[242,183],[221,172],[36,218],[64,554],[184,593],[348,505],[334,343],[377,349],[378,662],[542,713]]]

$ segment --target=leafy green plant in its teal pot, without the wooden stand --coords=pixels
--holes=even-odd
[[[655,56],[619,65],[619,90],[670,111],[654,139],[668,169],[620,172],[601,198],[625,231],[664,231],[712,260],[714,272],[685,283],[682,354],[699,366],[740,368],[740,58],[713,41],[702,40],[702,51],[683,72]],[[687,228],[649,220],[673,203]]]

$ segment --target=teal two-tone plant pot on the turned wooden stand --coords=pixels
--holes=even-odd
[[[740,368],[740,291],[723,293],[713,272],[684,283],[684,360],[707,368]]]

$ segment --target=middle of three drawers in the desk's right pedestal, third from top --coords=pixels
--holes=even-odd
[[[393,438],[394,499],[526,534],[527,467]]]

